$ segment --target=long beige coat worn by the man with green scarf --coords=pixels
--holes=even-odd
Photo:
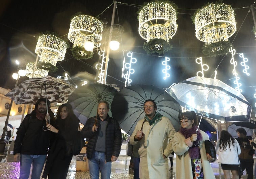
[[[137,122],[130,137],[131,144],[140,142],[139,178],[169,179],[168,158],[163,158],[163,154],[168,157],[172,153],[171,141],[176,131],[171,121],[163,116],[151,127],[148,122],[145,122],[142,130],[145,136],[141,141],[135,142],[134,136],[141,129],[143,121],[144,119]]]

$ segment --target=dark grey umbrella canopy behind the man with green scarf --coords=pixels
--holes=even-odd
[[[129,135],[132,134],[137,121],[145,117],[144,103],[147,99],[153,99],[157,111],[168,117],[175,130],[180,127],[179,103],[164,90],[148,85],[132,85],[121,89],[111,104],[112,115],[119,121],[120,127]]]

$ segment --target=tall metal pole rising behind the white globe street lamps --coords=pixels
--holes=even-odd
[[[109,42],[111,41],[111,38],[112,38],[112,31],[113,31],[114,19],[115,19],[115,14],[116,14],[116,7],[117,7],[117,1],[114,1],[112,20],[111,20],[111,25],[110,25],[110,30],[109,30],[105,71],[104,71],[104,77],[103,77],[103,83],[104,84],[106,84],[106,80],[107,80],[107,67],[108,67],[108,58],[109,58],[109,53],[110,53]]]

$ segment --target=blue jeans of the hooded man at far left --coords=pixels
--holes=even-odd
[[[45,164],[46,155],[26,155],[21,154],[20,161],[20,179],[28,179],[31,163],[32,174],[31,179],[40,179]]]

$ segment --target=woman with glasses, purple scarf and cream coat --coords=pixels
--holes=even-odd
[[[209,140],[209,137],[202,130],[196,132],[198,127],[196,113],[194,111],[182,113],[180,124],[180,130],[175,133],[172,142],[173,151],[176,153],[176,169],[178,169],[176,178],[215,178],[209,162],[212,158],[206,155],[204,146],[204,141]]]

